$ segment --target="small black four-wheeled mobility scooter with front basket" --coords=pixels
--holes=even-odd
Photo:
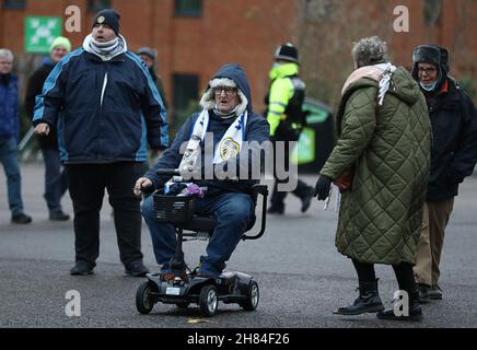
[[[159,170],[158,174],[171,176],[174,183],[184,182],[177,170]],[[243,241],[259,238],[266,228],[268,188],[266,185],[254,185],[249,195],[254,202],[254,213],[245,232],[255,225],[255,207],[259,195],[263,196],[261,226],[255,235],[244,234]],[[177,243],[171,268],[179,272],[175,275],[174,279],[167,281],[160,272],[148,273],[148,281],[139,285],[136,293],[137,310],[141,314],[149,314],[154,304],[159,302],[175,304],[181,308],[186,308],[194,303],[199,305],[203,316],[211,317],[217,313],[218,303],[221,301],[225,304],[236,303],[245,311],[255,311],[258,305],[259,289],[252,276],[224,271],[219,278],[208,278],[198,276],[197,269],[190,270],[185,264],[183,242],[208,240],[216,228],[213,217],[199,217],[194,213],[194,203],[197,197],[167,196],[164,195],[163,189],[158,189],[152,196],[155,220],[175,226]],[[181,273],[181,271],[186,272]]]

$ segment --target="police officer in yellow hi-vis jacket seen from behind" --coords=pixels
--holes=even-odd
[[[298,49],[291,43],[279,46],[275,52],[274,67],[270,70],[270,89],[265,97],[267,105],[266,117],[270,125],[270,139],[272,141],[284,141],[284,154],[275,154],[284,158],[286,167],[289,164],[290,141],[298,141],[304,114],[302,105],[305,98],[305,83],[299,78]],[[277,152],[276,152],[277,153]],[[277,176],[275,166],[275,187],[271,195],[269,213],[283,214],[284,198],[287,191],[278,191],[278,184],[287,183],[288,179],[280,179]],[[296,188],[292,191],[302,201],[301,211],[310,208],[313,188],[298,179]]]

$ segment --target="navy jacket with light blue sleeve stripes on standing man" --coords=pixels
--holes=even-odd
[[[36,98],[33,125],[39,122],[57,124],[67,164],[144,162],[147,141],[152,149],[168,142],[164,104],[131,52],[102,61],[80,48],[63,57]]]

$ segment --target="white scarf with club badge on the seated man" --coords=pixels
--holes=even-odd
[[[223,135],[219,142],[219,147],[216,148],[213,155],[213,164],[220,164],[226,162],[230,159],[235,158],[241,149],[244,140],[245,127],[247,125],[248,113],[245,112],[241,116],[236,117],[234,122]],[[196,168],[198,158],[200,158],[200,142],[206,137],[207,127],[209,125],[209,112],[203,109],[194,125],[193,136],[187,142],[186,151],[181,161],[181,173],[193,173]]]

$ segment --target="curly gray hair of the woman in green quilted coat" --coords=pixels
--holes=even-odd
[[[358,68],[389,61],[387,44],[379,36],[364,37],[354,43],[351,57]]]

